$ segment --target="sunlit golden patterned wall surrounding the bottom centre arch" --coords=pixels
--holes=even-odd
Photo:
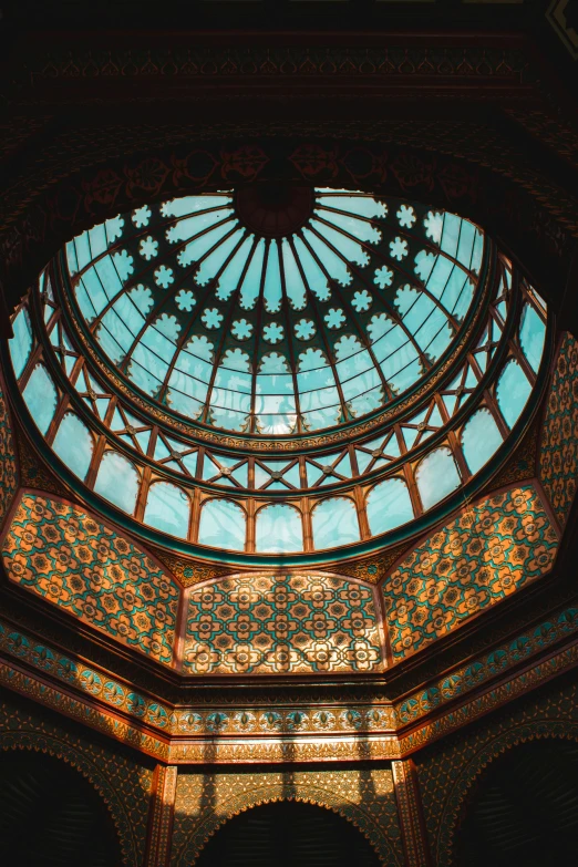
[[[270,773],[179,773],[173,867],[189,867],[219,825],[244,809],[293,798],[340,813],[368,837],[381,863],[402,867],[403,847],[390,767]]]

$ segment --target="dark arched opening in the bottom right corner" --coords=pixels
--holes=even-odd
[[[577,832],[578,744],[530,741],[477,778],[455,835],[455,864],[572,864]]]

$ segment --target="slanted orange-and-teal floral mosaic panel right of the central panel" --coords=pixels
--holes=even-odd
[[[557,536],[533,485],[465,509],[398,566],[383,584],[394,661],[547,572]]]

